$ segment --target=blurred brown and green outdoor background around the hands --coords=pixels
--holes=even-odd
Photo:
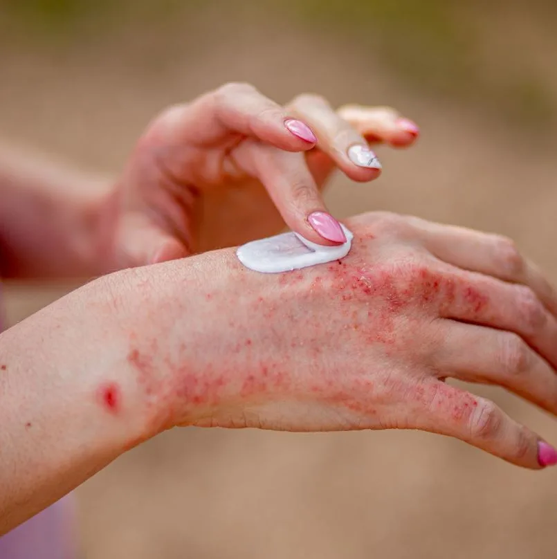
[[[116,173],[155,113],[227,81],[390,104],[419,145],[337,176],[338,217],[500,232],[557,281],[556,24],[554,0],[0,0],[0,135]],[[12,286],[10,320],[61,291]],[[556,476],[419,432],[174,430],[77,491],[80,537],[87,559],[547,559]]]

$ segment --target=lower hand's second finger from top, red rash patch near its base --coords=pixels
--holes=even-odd
[[[442,277],[441,318],[514,332],[557,367],[557,319],[531,288],[462,270]]]

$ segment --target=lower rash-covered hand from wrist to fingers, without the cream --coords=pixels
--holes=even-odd
[[[171,423],[411,428],[527,468],[556,463],[492,401],[445,382],[500,385],[556,414],[557,299],[533,264],[509,239],[417,218],[370,213],[347,226],[351,253],[302,271],[257,274],[232,251],[208,255],[221,264],[206,268],[203,297],[145,338],[180,338],[204,309],[194,343],[159,347],[174,375]]]

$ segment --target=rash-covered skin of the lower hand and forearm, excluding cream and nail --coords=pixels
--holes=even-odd
[[[433,257],[402,218],[347,225],[342,262],[259,274],[219,250],[109,275],[2,333],[0,532],[176,425],[417,428],[539,468],[536,434],[444,378],[555,413],[553,315]]]

